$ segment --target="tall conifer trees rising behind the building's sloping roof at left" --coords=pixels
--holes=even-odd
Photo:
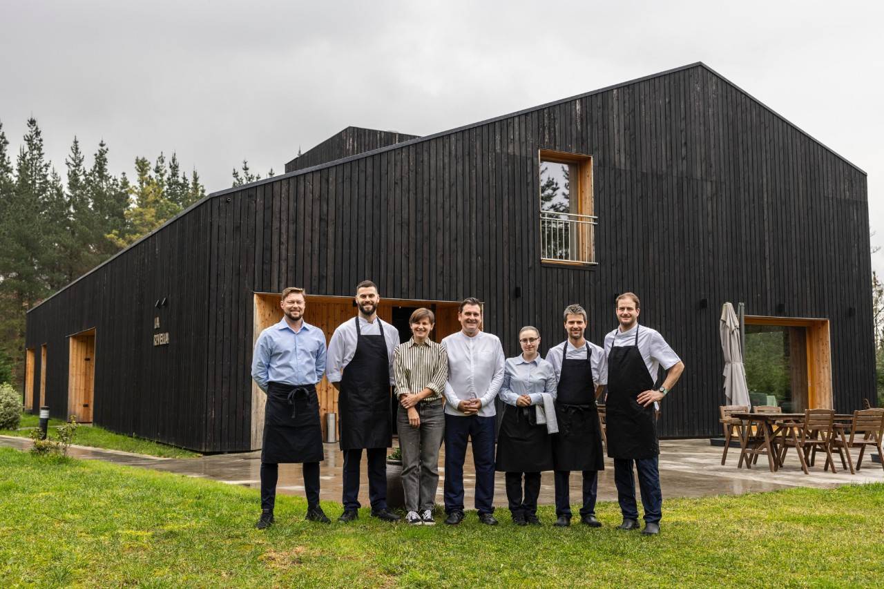
[[[18,154],[0,121],[0,382],[21,385],[25,312],[205,196],[175,153],[110,171],[107,144],[91,163],[73,138],[65,177],[47,159],[36,119]]]

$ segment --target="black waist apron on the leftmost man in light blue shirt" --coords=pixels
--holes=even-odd
[[[319,463],[323,458],[316,386],[268,383],[261,462]]]

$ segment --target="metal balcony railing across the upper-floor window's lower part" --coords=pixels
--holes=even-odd
[[[540,252],[545,260],[595,264],[597,217],[575,213],[540,211]]]

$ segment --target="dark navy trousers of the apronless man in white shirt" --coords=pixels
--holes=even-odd
[[[473,443],[476,509],[494,513],[494,428],[496,417],[445,416],[445,510],[463,511],[463,462],[467,440]]]

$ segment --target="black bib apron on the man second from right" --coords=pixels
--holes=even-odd
[[[555,415],[559,421],[559,433],[552,440],[555,470],[605,470],[589,343],[586,360],[568,359],[568,340],[562,347]]]

